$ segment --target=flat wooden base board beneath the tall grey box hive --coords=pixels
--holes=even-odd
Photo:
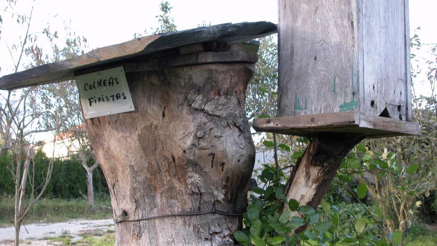
[[[366,138],[421,135],[419,124],[357,112],[255,119],[256,131],[312,137],[322,132],[363,134]]]

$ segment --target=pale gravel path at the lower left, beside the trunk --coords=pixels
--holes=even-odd
[[[26,225],[26,230],[21,226],[20,240],[28,242],[30,245],[47,245],[44,238],[58,237],[63,233],[77,237],[79,234],[89,231],[115,230],[115,224],[112,219],[109,220],[71,220],[62,223],[36,223]],[[0,246],[13,244],[14,227],[0,228]]]

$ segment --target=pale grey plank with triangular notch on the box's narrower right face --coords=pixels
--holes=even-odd
[[[404,0],[363,1],[363,29],[364,113],[405,120]]]

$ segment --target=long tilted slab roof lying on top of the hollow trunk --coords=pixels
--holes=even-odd
[[[244,42],[277,32],[271,22],[225,23],[178,32],[150,35],[92,50],[62,62],[45,64],[0,78],[0,89],[15,89],[72,80],[74,71],[119,62],[146,54],[205,42]]]

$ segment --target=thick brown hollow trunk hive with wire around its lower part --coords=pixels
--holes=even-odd
[[[255,148],[244,112],[253,64],[127,73],[135,111],[86,120],[116,245],[233,245]]]

